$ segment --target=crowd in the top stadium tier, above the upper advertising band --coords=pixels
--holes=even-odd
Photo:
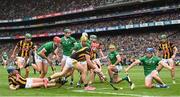
[[[38,2],[20,0],[18,3],[16,0],[2,0],[0,1],[0,20],[28,18],[128,1],[133,0],[39,0]]]

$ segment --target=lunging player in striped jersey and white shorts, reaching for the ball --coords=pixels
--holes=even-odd
[[[87,76],[86,76],[87,70],[84,69],[83,65],[80,64],[79,61],[86,61],[90,68],[95,69],[95,71],[98,72],[98,74],[100,74],[102,77],[104,77],[104,75],[102,74],[102,72],[100,72],[98,68],[94,67],[94,64],[92,63],[90,59],[90,49],[86,47],[87,37],[81,37],[80,40],[81,40],[83,48],[74,52],[70,56],[70,58],[67,58],[66,64],[62,72],[55,73],[52,76],[48,77],[48,79],[51,80],[51,79],[67,76],[67,74],[72,71],[72,68],[74,68],[74,69],[77,69],[81,73],[82,81],[84,83],[84,89],[95,90],[96,89],[95,87],[91,87],[88,85]]]

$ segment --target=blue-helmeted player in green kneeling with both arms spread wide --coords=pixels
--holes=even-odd
[[[163,62],[159,57],[154,56],[154,49],[147,48],[146,55],[137,59],[133,62],[130,66],[125,69],[125,72],[128,72],[133,66],[142,63],[144,68],[144,75],[145,75],[145,87],[153,88],[168,88],[168,86],[162,81],[162,79],[158,75],[158,71],[156,68],[158,66],[164,66],[167,69],[171,70],[172,68],[168,66],[165,62]],[[155,80],[158,84],[154,85],[153,80]]]

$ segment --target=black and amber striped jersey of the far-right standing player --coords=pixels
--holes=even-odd
[[[170,43],[169,41],[161,42],[159,44],[159,50],[162,51],[164,59],[169,59],[172,57],[173,48],[174,48],[174,44]]]

